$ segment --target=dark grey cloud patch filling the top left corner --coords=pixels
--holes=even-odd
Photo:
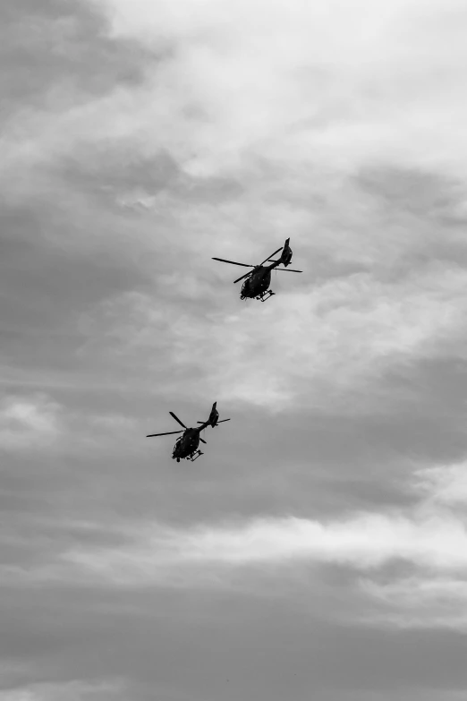
[[[0,11],[2,116],[31,107],[64,108],[89,94],[144,79],[148,50],[107,36],[105,17],[81,0],[21,0]]]

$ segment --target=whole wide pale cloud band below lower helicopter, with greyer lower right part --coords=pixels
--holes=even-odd
[[[429,483],[431,468],[419,471],[415,484],[423,473],[424,484]],[[453,474],[446,470],[446,482]],[[290,593],[287,581],[301,597],[318,586],[310,568],[325,577],[323,582],[325,572],[346,571],[348,611],[342,615],[352,625],[464,630],[467,532],[463,515],[448,508],[451,502],[437,500],[437,483],[431,484],[431,492],[415,487],[418,499],[405,509],[334,519],[238,517],[185,527],[128,519],[118,529],[107,526],[108,539],[99,546],[64,540],[60,549],[43,551],[40,565],[4,564],[0,579],[3,586],[264,595],[274,577],[279,597]],[[83,526],[77,523],[72,530],[78,534]],[[97,524],[85,526],[98,533]],[[323,582],[320,590],[331,595]],[[335,605],[341,603],[337,597]]]

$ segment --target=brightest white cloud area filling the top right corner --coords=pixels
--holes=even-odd
[[[162,129],[190,173],[232,172],[259,156],[464,172],[458,0],[92,1],[114,36],[172,49],[157,98],[141,100],[133,120],[142,126],[150,112],[149,143]]]

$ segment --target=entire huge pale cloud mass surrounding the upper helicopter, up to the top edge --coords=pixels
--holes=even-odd
[[[116,372],[141,384],[135,367],[144,363],[158,386],[157,368],[174,363],[174,381],[167,373],[161,380],[167,394],[183,379],[193,396],[208,387],[222,401],[328,410],[370,397],[380,404],[378,382],[389,366],[453,347],[462,355],[464,271],[439,261],[420,266],[441,239],[446,250],[454,246],[451,258],[458,250],[457,231],[432,231],[431,209],[448,188],[445,175],[457,174],[459,142],[449,151],[453,167],[442,158],[427,163],[434,151],[425,144],[420,158],[409,158],[423,130],[414,136],[412,117],[397,121],[412,109],[426,114],[424,101],[439,89],[427,52],[457,79],[457,58],[435,41],[438,20],[446,34],[454,30],[457,3],[427,8],[412,0],[389,9],[361,0],[326,12],[275,3],[266,17],[262,2],[240,3],[234,13],[223,3],[193,13],[163,0],[88,7],[106,13],[94,22],[106,50],[131,38],[151,44],[158,59],[142,62],[140,81],[115,81],[66,108],[58,102],[21,113],[4,139],[4,163],[11,157],[21,166],[13,202],[30,201],[21,189],[29,187],[25,170],[39,201],[58,194],[64,221],[51,235],[47,217],[48,243],[66,241],[89,257],[102,247],[140,271],[131,289],[80,286],[95,286],[97,297],[82,305],[75,338],[88,366],[100,361],[100,377],[114,371],[114,382]],[[345,22],[330,21],[333,12]],[[376,124],[370,149],[367,138],[352,135],[371,136],[368,120]],[[403,141],[398,149],[394,135]],[[14,189],[12,168],[5,177]],[[401,205],[400,191],[388,189],[395,181],[406,184],[409,199],[424,193],[416,216]],[[457,192],[444,215],[459,215],[462,206]],[[123,209],[124,218],[116,216]],[[89,235],[95,220],[99,236]],[[281,295],[269,307],[237,312],[234,275],[213,261],[208,268],[209,254],[248,250],[250,260],[291,232],[306,282],[273,278]],[[89,278],[100,277],[96,268]]]

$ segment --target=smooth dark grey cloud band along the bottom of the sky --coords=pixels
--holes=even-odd
[[[3,654],[32,670],[17,677],[18,686],[123,678],[138,701],[149,689],[297,701],[311,689],[340,701],[357,691],[418,698],[421,688],[441,699],[466,683],[461,636],[343,628],[303,616],[293,603],[168,593],[129,601],[76,590],[61,592],[59,603],[53,593],[39,594],[34,606],[22,594],[4,594],[4,603],[10,645]],[[27,625],[14,615],[20,606]]]

